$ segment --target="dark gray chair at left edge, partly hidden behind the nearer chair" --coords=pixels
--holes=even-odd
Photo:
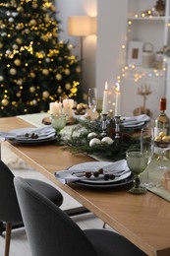
[[[27,179],[27,182],[31,187],[45,195],[55,205],[62,205],[63,196],[53,186],[36,179]],[[6,230],[5,256],[9,255],[11,230],[14,224],[24,226],[14,187],[14,174],[10,168],[0,160],[0,227],[1,233],[4,226]]]

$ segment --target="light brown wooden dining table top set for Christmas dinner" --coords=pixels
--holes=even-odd
[[[0,130],[31,127],[18,117],[1,117]],[[19,145],[1,142],[32,168],[42,173],[86,209],[124,235],[146,255],[170,256],[170,202],[151,193],[133,195],[124,188],[89,188],[75,183],[63,184],[54,172],[94,159],[73,155],[53,144]]]

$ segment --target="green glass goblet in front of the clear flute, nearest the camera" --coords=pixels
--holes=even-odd
[[[128,166],[134,174],[134,186],[129,190],[132,194],[145,194],[146,188],[141,185],[140,174],[148,164],[148,155],[142,153],[141,149],[126,152]]]

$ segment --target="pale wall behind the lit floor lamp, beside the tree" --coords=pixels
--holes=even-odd
[[[63,32],[60,33],[60,38],[70,40],[76,46],[73,53],[80,57],[80,37],[69,36],[68,34],[68,17],[69,16],[96,16],[97,0],[55,0],[58,10],[57,18],[62,22],[60,28]],[[83,61],[83,79],[84,91],[95,87],[95,61],[96,61],[96,36],[90,35],[83,38],[84,45],[84,61]]]

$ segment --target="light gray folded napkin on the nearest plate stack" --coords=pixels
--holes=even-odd
[[[74,173],[81,173],[83,171],[97,171],[99,168],[102,168],[103,171],[112,172],[113,174],[123,174],[125,171],[128,171],[128,165],[126,160],[118,160],[115,162],[110,161],[87,161],[84,163],[76,164],[69,169],[59,170],[55,172],[55,177],[60,180],[63,184],[68,184],[70,182],[83,180],[83,177],[78,177]],[[84,179],[86,179],[84,177]]]

